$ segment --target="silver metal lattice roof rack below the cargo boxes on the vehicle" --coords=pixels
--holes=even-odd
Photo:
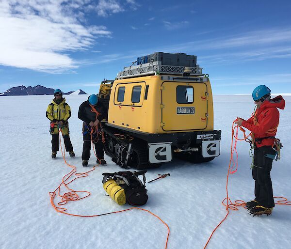
[[[191,76],[203,76],[202,67],[188,67],[191,69]],[[161,74],[170,74],[170,75],[182,75],[185,70],[185,66],[170,66],[162,65],[161,62],[149,62],[141,65],[131,65],[125,67],[124,71],[121,71],[117,74],[116,78],[131,78],[138,76],[147,76],[147,75],[161,75]]]

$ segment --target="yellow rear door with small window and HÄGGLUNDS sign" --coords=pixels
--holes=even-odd
[[[162,82],[162,129],[202,130],[207,127],[207,85],[204,82]]]

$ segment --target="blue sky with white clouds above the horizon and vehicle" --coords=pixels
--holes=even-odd
[[[0,92],[97,93],[136,57],[197,55],[212,91],[291,93],[290,0],[0,0]]]

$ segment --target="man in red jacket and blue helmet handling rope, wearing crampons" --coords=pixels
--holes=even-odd
[[[271,99],[271,90],[260,85],[253,91],[253,99],[257,104],[254,116],[248,120],[238,118],[235,123],[252,132],[255,142],[253,179],[255,180],[255,200],[246,202],[246,206],[254,215],[271,214],[275,206],[270,172],[276,154],[275,135],[279,124],[279,109],[284,109],[282,96]],[[272,146],[273,145],[273,146]],[[272,158],[273,157],[273,158]]]

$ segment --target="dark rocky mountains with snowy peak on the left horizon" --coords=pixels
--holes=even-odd
[[[41,85],[34,87],[16,86],[8,89],[4,93],[0,93],[0,96],[17,96],[17,95],[53,95],[54,89],[46,88]],[[87,94],[84,91],[77,90],[75,92],[71,91],[63,94]]]

